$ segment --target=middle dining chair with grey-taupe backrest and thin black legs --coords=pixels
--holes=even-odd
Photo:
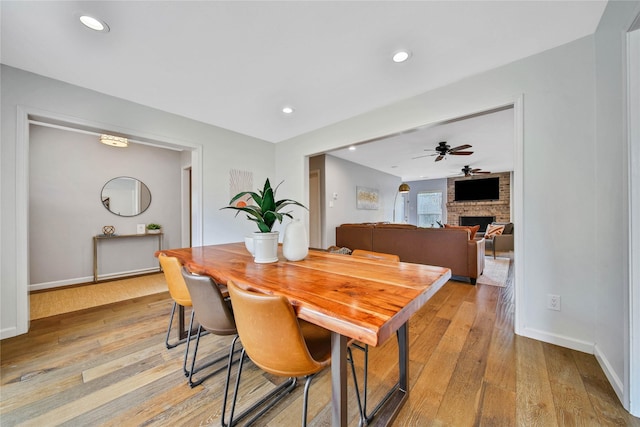
[[[193,311],[195,313],[195,320],[198,323],[198,330],[196,332],[196,343],[193,350],[191,359],[191,368],[189,369],[189,386],[195,387],[201,384],[205,379],[217,374],[226,368],[227,379],[225,382],[225,394],[229,387],[229,376],[231,373],[231,365],[233,364],[233,354],[235,353],[235,346],[238,340],[238,332],[236,330],[236,322],[233,318],[233,312],[231,310],[231,302],[225,300],[222,296],[222,292],[218,287],[218,284],[213,281],[209,276],[199,276],[192,274],[186,268],[182,268],[182,277],[189,289],[191,295],[191,301],[193,303]],[[200,344],[200,336],[203,331],[209,331],[214,335],[229,336],[234,335],[229,349],[229,355],[222,355],[215,360],[207,362],[202,366],[196,367],[196,358],[198,355],[198,345]],[[191,337],[191,330],[189,330],[189,338]],[[218,367],[218,369],[209,372],[207,375],[201,377],[198,380],[193,379],[193,374],[201,371],[204,368],[215,365],[223,360],[227,360],[227,363]]]

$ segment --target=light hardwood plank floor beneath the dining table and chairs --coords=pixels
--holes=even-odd
[[[592,355],[514,335],[509,277],[505,288],[450,281],[411,319],[410,398],[394,425],[640,426]],[[187,386],[184,346],[164,347],[170,309],[168,294],[151,295],[35,320],[3,340],[0,425],[220,425],[223,375]],[[201,354],[229,342],[205,336]],[[372,400],[397,377],[396,360],[393,339],[372,349]],[[277,381],[245,369],[241,405]],[[330,424],[330,393],[325,371],[311,387],[310,426]],[[299,425],[301,394],[257,425]]]

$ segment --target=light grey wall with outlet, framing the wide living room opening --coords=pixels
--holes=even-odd
[[[618,244],[594,242],[591,232],[597,226],[596,179],[586,172],[596,161],[593,43],[586,37],[279,143],[278,174],[303,182],[306,154],[510,104],[522,95],[520,333],[591,352],[596,288],[607,286],[595,278],[595,247]],[[303,191],[300,185],[293,196]],[[617,267],[624,267],[622,260]],[[549,293],[562,297],[561,312],[546,309]]]

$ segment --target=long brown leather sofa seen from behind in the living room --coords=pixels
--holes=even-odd
[[[475,285],[484,270],[484,239],[466,229],[418,228],[409,224],[342,224],[336,246],[395,254],[402,262],[437,265]]]

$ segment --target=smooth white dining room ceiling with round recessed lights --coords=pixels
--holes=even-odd
[[[0,60],[275,143],[592,34],[605,5],[2,0]]]

